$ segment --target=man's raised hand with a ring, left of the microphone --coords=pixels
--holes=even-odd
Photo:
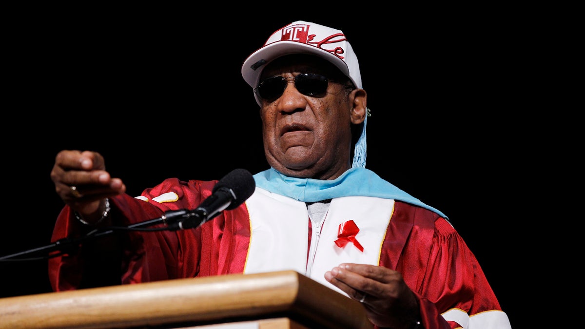
[[[101,218],[106,198],[126,191],[121,179],[112,178],[106,172],[104,157],[92,151],[57,153],[51,180],[61,200],[88,222]]]

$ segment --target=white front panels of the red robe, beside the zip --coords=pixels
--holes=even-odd
[[[244,273],[295,270],[307,275],[308,221],[307,205],[279,194],[256,188],[246,200],[252,237]],[[377,197],[334,198],[317,243],[311,279],[343,293],[325,280],[325,272],[341,263],[378,265],[381,244],[394,210],[394,200]],[[340,248],[339,224],[353,220],[359,232],[360,251],[352,242]],[[343,293],[345,294],[345,293]]]

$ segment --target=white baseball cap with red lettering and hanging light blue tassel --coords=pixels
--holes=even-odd
[[[349,77],[356,88],[362,88],[360,65],[343,32],[304,20],[292,22],[272,33],[264,45],[244,61],[242,77],[254,90],[260,83],[260,74],[266,64],[288,54],[311,54],[328,60]],[[260,98],[256,92],[253,94],[261,106]],[[355,146],[353,167],[366,166],[366,122],[369,109],[367,112],[362,135]]]

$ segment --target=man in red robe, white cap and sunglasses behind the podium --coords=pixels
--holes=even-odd
[[[112,236],[51,259],[54,290],[294,269],[360,301],[377,327],[510,328],[445,215],[364,168],[367,94],[342,31],[284,26],[242,76],[270,165],[252,196],[196,228]],[[194,209],[216,183],[172,178],[131,197],[101,155],[77,150],[57,155],[51,179],[66,203],[54,240]]]

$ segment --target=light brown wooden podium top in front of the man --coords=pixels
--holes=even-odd
[[[363,306],[292,270],[0,299],[0,328],[356,328]]]

